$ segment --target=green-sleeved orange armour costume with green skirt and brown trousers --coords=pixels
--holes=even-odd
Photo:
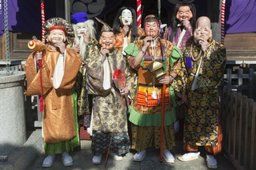
[[[162,102],[165,102],[165,132],[164,148],[172,149],[175,145],[173,123],[176,121],[173,98],[171,97],[170,85],[166,85],[166,91],[162,92],[163,85],[159,83],[153,72],[147,68],[147,65],[155,61],[161,61],[164,65],[166,75],[169,76],[173,71],[178,71],[180,57],[179,50],[173,43],[159,38],[160,42],[154,47],[147,48],[141,64],[136,68],[138,72],[138,83],[134,93],[132,105],[130,105],[129,121],[132,122],[132,148],[137,151],[152,146],[154,138],[154,147],[160,146],[160,129],[162,125]],[[134,41],[126,49],[126,53],[131,56],[137,56],[142,49],[143,40]],[[152,97],[156,93],[157,98]],[[162,100],[162,93],[165,94],[165,100]]]

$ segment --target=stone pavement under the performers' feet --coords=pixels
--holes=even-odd
[[[126,154],[122,161],[115,161],[109,157],[107,164],[105,165],[106,155],[102,156],[102,164],[92,164],[93,154],[90,150],[90,140],[82,140],[81,148],[77,148],[74,152],[70,152],[70,155],[73,156],[74,165],[71,167],[65,167],[62,164],[62,156],[58,155],[54,165],[51,168],[42,168],[42,160],[44,155],[42,152],[42,131],[37,129],[31,133],[29,139],[26,141],[26,144],[22,148],[15,148],[14,152],[8,155],[8,160],[5,162],[0,161],[1,170],[62,170],[62,169],[72,169],[72,170],[98,170],[98,169],[107,169],[107,170],[157,170],[157,169],[174,169],[174,170],[205,170],[208,169],[206,166],[206,161],[204,157],[205,154],[201,154],[198,160],[192,160],[190,162],[182,162],[177,159],[178,156],[183,154],[182,151],[182,141],[178,140],[176,147],[172,151],[174,154],[175,163],[170,164],[166,163],[164,160],[162,163],[159,161],[159,150],[154,148],[149,148],[146,153],[146,157],[142,162],[134,162],[133,156],[134,152]],[[218,169],[220,170],[234,170],[235,168],[230,164],[226,157],[222,154],[217,156],[218,160]]]

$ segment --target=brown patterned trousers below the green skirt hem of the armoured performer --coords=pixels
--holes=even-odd
[[[174,126],[164,128],[165,135],[163,139],[163,148],[171,150],[175,146]],[[150,148],[154,141],[154,148],[160,148],[161,127],[159,126],[136,126],[132,127],[132,145],[131,148],[136,151]]]

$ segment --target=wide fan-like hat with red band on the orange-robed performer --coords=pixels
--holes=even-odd
[[[63,30],[66,35],[66,41],[70,44],[74,41],[73,26],[63,18],[50,18],[43,25],[46,30],[44,36],[47,39],[51,30]]]

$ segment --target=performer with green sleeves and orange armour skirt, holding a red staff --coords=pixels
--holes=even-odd
[[[129,61],[130,67],[138,73],[137,88],[130,106],[129,120],[133,124],[131,148],[137,151],[134,161],[144,159],[146,148],[150,148],[153,141],[154,148],[160,148],[161,113],[164,102],[163,157],[167,162],[174,163],[174,156],[170,150],[175,146],[173,124],[176,118],[170,95],[170,83],[174,80],[172,74],[178,71],[180,53],[173,43],[159,37],[160,22],[157,17],[150,14],[146,16],[143,24],[146,38],[134,41],[125,49],[125,52],[132,56]],[[160,80],[158,74],[149,70],[152,64],[154,69],[154,63],[162,63],[161,68],[164,70],[158,73],[162,75]],[[166,91],[162,92],[164,85]],[[165,94],[165,101],[162,101],[162,93]]]

